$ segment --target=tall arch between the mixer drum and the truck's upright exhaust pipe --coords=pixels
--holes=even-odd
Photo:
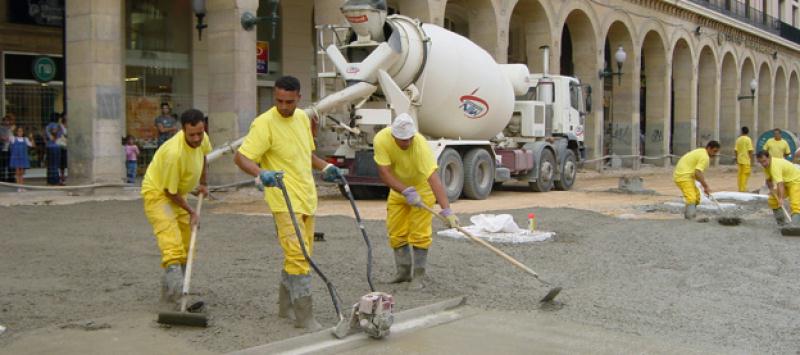
[[[508,62],[526,64],[532,73],[544,72],[544,57],[539,48],[550,46],[553,39],[542,4],[537,0],[520,0],[511,13],[509,27]]]

